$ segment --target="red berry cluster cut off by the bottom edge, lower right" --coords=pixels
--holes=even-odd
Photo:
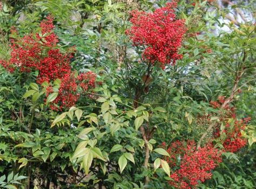
[[[221,162],[221,151],[212,144],[196,149],[194,141],[176,141],[167,149],[166,161],[172,170],[170,185],[180,189],[196,188],[199,181],[212,177],[211,171]]]

